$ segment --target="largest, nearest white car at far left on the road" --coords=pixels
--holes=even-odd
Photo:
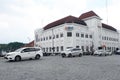
[[[14,52],[7,53],[4,58],[11,61],[20,61],[23,59],[40,59],[43,56],[42,49],[39,47],[24,47]]]

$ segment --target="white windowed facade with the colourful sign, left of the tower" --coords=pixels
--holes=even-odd
[[[39,32],[39,30],[37,31]],[[72,33],[71,37],[67,36],[67,33],[69,32]],[[35,34],[37,34],[37,32],[35,32]],[[81,34],[83,34],[84,37],[81,37]],[[60,53],[61,51],[69,47],[79,47],[82,48],[84,51],[86,51],[86,49],[88,48],[87,50],[90,51],[90,47],[92,46],[92,33],[89,32],[87,26],[83,26],[80,24],[65,23],[57,27],[43,30],[41,34],[37,35],[39,37],[38,41],[36,40],[36,45],[40,44],[43,50],[48,53],[52,52],[53,47],[55,48],[55,53]]]

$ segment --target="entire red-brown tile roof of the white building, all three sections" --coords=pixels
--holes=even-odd
[[[61,24],[64,24],[64,23],[77,23],[77,24],[82,24],[82,25],[87,25],[82,19],[84,18],[88,18],[88,17],[92,17],[92,16],[97,16],[99,17],[95,12],[93,11],[89,11],[89,12],[86,12],[86,13],[83,13],[79,18],[77,17],[74,17],[74,16],[67,16],[67,17],[64,17],[62,19],[59,19],[55,22],[52,22],[48,25],[46,25],[44,27],[44,30],[46,29],[49,29],[49,28],[53,28],[55,26],[58,26],[58,25],[61,25]],[[100,17],[99,17],[100,18]],[[109,26],[107,24],[104,24],[102,23],[102,27],[103,28],[106,28],[106,29],[110,29],[110,30],[113,30],[113,31],[117,31],[115,28],[113,28],[112,26]]]

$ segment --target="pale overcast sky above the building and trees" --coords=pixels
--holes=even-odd
[[[0,0],[0,43],[29,43],[36,29],[91,10],[120,30],[119,8],[120,0]]]

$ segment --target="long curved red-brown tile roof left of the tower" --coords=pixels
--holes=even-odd
[[[79,18],[73,17],[73,16],[67,16],[65,18],[62,18],[60,20],[57,20],[55,22],[52,22],[44,27],[44,30],[64,24],[64,23],[77,23],[82,25],[87,25],[83,20],[80,20]]]

